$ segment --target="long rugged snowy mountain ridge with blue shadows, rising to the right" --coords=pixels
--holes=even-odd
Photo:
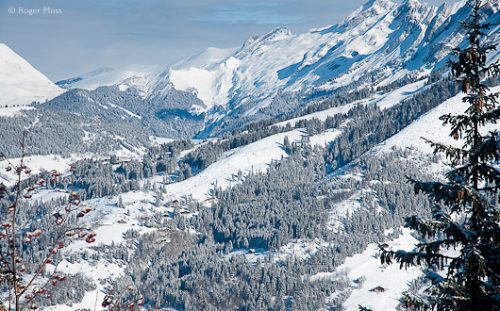
[[[498,22],[498,2],[487,6],[487,19]],[[466,1],[438,7],[418,0],[370,0],[343,22],[303,34],[281,27],[239,48],[208,48],[163,70],[101,70],[59,84],[95,88],[121,79],[114,84],[135,86],[149,98],[172,88],[193,92],[203,105],[189,112],[207,113],[210,124],[228,115],[254,115],[277,94],[311,98],[438,71],[463,41],[460,21],[469,11]],[[498,41],[499,27],[491,33]]]

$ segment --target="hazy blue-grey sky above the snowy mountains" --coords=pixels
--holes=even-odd
[[[338,22],[364,2],[0,0],[0,42],[57,81],[104,66],[170,64],[277,26],[303,32]]]

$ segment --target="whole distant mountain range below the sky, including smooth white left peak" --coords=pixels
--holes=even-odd
[[[500,41],[499,6],[490,1],[484,9],[487,21],[496,25],[489,30],[495,42]],[[104,116],[118,109],[115,121],[132,118],[127,126],[141,124],[154,136],[220,136],[325,98],[361,99],[438,73],[446,68],[451,48],[464,41],[460,22],[469,12],[466,1],[438,7],[417,0],[370,0],[343,22],[303,34],[277,28],[240,47],[208,48],[171,66],[100,68],[56,84],[2,44],[0,90],[6,95],[0,107],[43,102],[63,88],[83,89],[68,91],[48,107],[77,110],[83,117],[90,110]]]

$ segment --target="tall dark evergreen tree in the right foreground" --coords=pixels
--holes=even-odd
[[[484,83],[498,76],[500,64],[487,64],[495,46],[484,41],[490,25],[483,22],[481,1],[469,3],[471,14],[463,27],[468,44],[456,48],[457,60],[449,65],[461,84],[463,114],[441,117],[451,126],[450,136],[463,139],[462,148],[430,142],[435,153],[444,153],[451,169],[446,182],[409,179],[415,192],[434,202],[430,220],[412,216],[406,226],[423,238],[415,251],[382,248],[382,263],[400,267],[424,265],[444,276],[432,274],[432,285],[417,295],[407,295],[407,307],[414,310],[500,310],[500,135],[484,126],[497,124],[499,93],[488,94]],[[453,251],[453,252],[452,252]]]

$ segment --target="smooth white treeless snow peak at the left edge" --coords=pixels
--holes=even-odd
[[[52,83],[30,63],[0,43],[0,109],[44,102],[64,90]]]

